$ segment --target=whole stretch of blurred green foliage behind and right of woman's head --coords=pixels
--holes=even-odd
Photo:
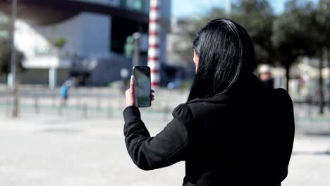
[[[214,18],[230,18],[246,28],[255,44],[257,63],[290,67],[299,56],[319,56],[330,48],[330,0],[292,0],[274,15],[267,0],[239,0],[230,15],[213,8],[190,22],[200,29]],[[191,40],[195,35],[190,35]]]

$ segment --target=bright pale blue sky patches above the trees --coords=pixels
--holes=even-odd
[[[235,1],[235,0],[232,0]],[[288,0],[269,0],[274,13],[281,13]],[[318,1],[318,0],[312,0]],[[191,16],[195,13],[204,13],[211,7],[225,8],[226,0],[172,0],[172,13],[175,17]]]

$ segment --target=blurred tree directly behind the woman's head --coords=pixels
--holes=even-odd
[[[221,8],[212,8],[206,16],[197,16],[197,18],[188,20],[188,22],[194,25],[197,30],[215,18],[230,18],[243,25],[255,44],[257,63],[274,63],[274,49],[271,42],[273,32],[271,25],[274,16],[267,0],[240,0],[233,4],[233,11],[229,15]],[[191,41],[195,37],[195,32],[191,32],[191,30],[184,34]],[[190,56],[191,53],[190,49]]]

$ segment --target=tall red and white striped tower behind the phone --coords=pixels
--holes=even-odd
[[[151,69],[152,88],[158,87],[160,81],[160,3],[161,0],[150,0],[148,66]]]

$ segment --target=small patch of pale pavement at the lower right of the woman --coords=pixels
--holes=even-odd
[[[326,186],[330,183],[330,135],[298,136],[288,178],[283,185]]]

